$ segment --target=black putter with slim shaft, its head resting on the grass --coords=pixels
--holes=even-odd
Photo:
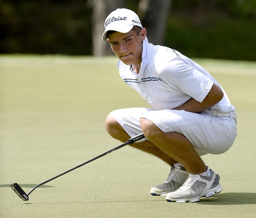
[[[69,173],[70,171],[72,171],[72,170],[74,170],[74,169],[77,169],[78,167],[82,167],[82,166],[84,166],[85,164],[88,164],[88,163],[92,162],[93,160],[96,160],[96,159],[98,159],[98,158],[100,158],[100,157],[105,156],[106,154],[109,154],[109,153],[111,153],[111,152],[114,152],[114,151],[116,151],[117,149],[122,148],[122,147],[124,147],[124,146],[127,145],[127,144],[133,144],[134,142],[137,142],[137,141],[139,141],[139,140],[142,139],[142,138],[145,138],[145,136],[143,135],[143,133],[140,133],[139,135],[134,136],[134,137],[128,139],[127,142],[125,142],[124,144],[121,144],[121,145],[117,146],[116,148],[113,148],[113,149],[109,150],[108,152],[105,152],[105,153],[103,153],[103,154],[100,154],[99,156],[97,156],[97,157],[95,157],[95,158],[92,158],[91,160],[88,160],[88,161],[86,161],[86,162],[84,162],[84,163],[82,163],[82,164],[80,164],[80,165],[78,165],[78,166],[76,166],[76,167],[74,167],[74,168],[72,168],[72,169],[70,169],[70,170],[64,172],[64,173],[61,173],[60,175],[56,175],[56,176],[52,177],[51,179],[48,179],[48,180],[44,181],[43,183],[40,183],[40,184],[36,185],[33,189],[31,189],[31,191],[28,192],[28,194],[26,194],[26,192],[22,190],[22,188],[18,185],[18,183],[12,183],[12,184],[11,184],[11,187],[12,187],[13,191],[15,191],[15,193],[16,193],[22,200],[28,201],[28,195],[29,195],[32,191],[34,191],[37,187],[39,187],[40,185],[43,185],[43,184],[45,184],[45,183],[48,183],[48,182],[52,181],[53,179],[56,179],[56,178],[58,178],[58,177],[60,177],[60,176],[62,176],[62,175],[64,175],[64,174],[66,174],[66,173]]]

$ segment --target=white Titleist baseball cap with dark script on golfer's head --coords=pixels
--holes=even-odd
[[[133,26],[142,28],[138,15],[126,8],[118,8],[111,12],[105,20],[105,31],[102,34],[102,42],[107,40],[107,32],[114,30],[120,33],[128,33]]]

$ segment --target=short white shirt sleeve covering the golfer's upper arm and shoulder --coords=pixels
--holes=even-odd
[[[213,81],[181,58],[164,59],[157,66],[159,77],[173,89],[202,102]]]

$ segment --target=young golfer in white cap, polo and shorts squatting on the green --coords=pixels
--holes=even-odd
[[[222,154],[236,138],[236,111],[220,84],[180,52],[148,42],[138,15],[128,9],[111,12],[102,41],[118,57],[124,82],[151,105],[112,111],[108,133],[122,141],[143,132],[132,144],[167,164],[167,180],[151,195],[170,202],[196,202],[222,191],[220,176],[200,156]],[[126,94],[126,93],[125,93]]]

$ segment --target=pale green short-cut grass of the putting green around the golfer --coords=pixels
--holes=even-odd
[[[238,136],[221,155],[203,156],[224,190],[198,203],[168,203],[149,189],[169,167],[126,146],[63,175],[23,202],[36,184],[120,144],[104,121],[117,108],[148,107],[118,75],[116,58],[0,56],[1,217],[255,217],[256,63],[196,59],[227,92]]]

